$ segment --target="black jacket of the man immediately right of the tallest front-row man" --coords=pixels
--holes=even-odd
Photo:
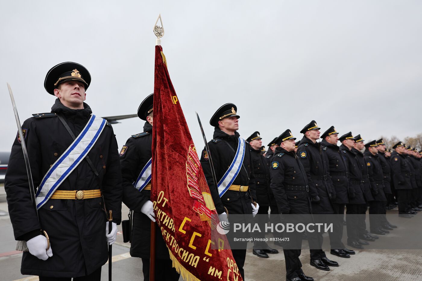
[[[333,203],[347,204],[349,203],[348,185],[349,180],[348,166],[346,160],[340,154],[340,148],[335,144],[331,144],[326,140],[322,140],[322,154],[326,154],[328,158],[328,169],[330,170],[333,189],[335,190],[335,198]]]

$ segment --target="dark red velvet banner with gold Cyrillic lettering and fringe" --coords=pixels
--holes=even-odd
[[[153,122],[151,201],[173,266],[184,280],[242,280],[226,236],[216,231],[218,215],[161,46]]]

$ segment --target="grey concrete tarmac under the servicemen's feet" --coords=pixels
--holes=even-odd
[[[0,197],[4,193],[0,186]],[[7,212],[7,203],[0,203],[0,280],[38,280],[36,276],[23,276],[20,274],[22,253],[16,252],[13,230]],[[390,214],[398,213],[396,210],[387,211]],[[128,208],[123,205],[122,218],[127,218]],[[412,219],[396,218],[390,221],[398,225],[391,230],[390,234],[380,236],[371,243],[387,245],[397,243],[402,233],[414,233],[413,237],[420,240],[419,229],[422,225],[422,212]],[[367,220],[368,221],[368,220]],[[346,234],[344,233],[344,236]],[[327,257],[339,263],[339,267],[330,267],[330,271],[318,270],[309,265],[309,250],[302,250],[300,260],[302,269],[307,276],[321,281],[395,281],[395,280],[422,280],[422,250],[356,250],[356,254],[349,259],[336,257],[330,254],[329,239],[324,235],[324,247]],[[344,237],[345,238],[345,237]],[[345,243],[344,239],[344,243]],[[285,264],[282,249],[268,243],[278,249],[279,254],[270,254],[268,259],[262,259],[252,254],[249,249],[246,254],[245,280],[285,280]],[[122,232],[119,226],[116,243],[113,245],[113,278],[114,280],[143,280],[142,261],[140,258],[130,257],[129,243],[123,243]],[[307,241],[303,242],[307,246]],[[377,245],[378,246],[378,245]],[[382,248],[382,246],[381,246]],[[349,247],[349,249],[352,249]],[[54,251],[54,249],[53,249]],[[102,280],[108,280],[108,264],[103,266]],[[179,280],[183,280],[180,278]]]

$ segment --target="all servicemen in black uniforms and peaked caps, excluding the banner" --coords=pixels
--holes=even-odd
[[[28,247],[21,273],[40,280],[100,280],[107,245],[116,240],[123,202],[133,221],[130,254],[142,259],[143,277],[149,280],[151,221],[155,222],[150,200],[154,95],[138,108],[138,117],[145,121],[143,132],[132,135],[118,152],[111,125],[84,103],[90,82],[88,70],[75,62],[51,68],[44,82],[46,91],[57,97],[51,112],[25,120],[24,139],[17,136],[12,146],[5,191],[15,239],[26,241]],[[385,216],[395,200],[400,217],[411,218],[422,211],[420,151],[398,142],[390,153],[382,139],[364,143],[351,132],[338,138],[333,126],[320,136],[315,121],[300,131],[302,140],[295,142],[287,129],[265,151],[259,132],[246,141],[240,137],[239,118],[232,103],[218,108],[210,120],[215,130],[209,151],[204,149],[200,155],[220,221],[228,221],[227,214],[270,213],[272,220],[280,222],[286,220],[285,214],[318,214],[315,220],[329,220],[334,226],[329,233],[330,253],[350,258],[355,252],[341,241],[345,210],[347,245],[356,249],[396,228]],[[38,186],[36,210],[22,165],[22,141]],[[369,213],[377,216],[370,217],[369,231],[368,206]],[[113,210],[112,218],[104,213],[108,210]],[[179,280],[155,227],[155,279]],[[321,270],[339,266],[322,250],[322,233],[307,236],[312,266]],[[314,280],[301,269],[302,238],[294,235],[291,245],[295,247],[283,249],[287,280]],[[275,244],[283,246],[279,241]],[[246,243],[232,252],[244,278]],[[264,242],[253,249],[261,258],[278,252]]]

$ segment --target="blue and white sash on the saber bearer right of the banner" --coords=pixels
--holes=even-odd
[[[233,183],[235,178],[240,172],[243,164],[243,158],[245,157],[245,140],[243,138],[239,138],[238,148],[233,158],[233,162],[227,171],[224,173],[224,176],[217,184],[217,189],[220,197],[222,197],[230,185]]]

